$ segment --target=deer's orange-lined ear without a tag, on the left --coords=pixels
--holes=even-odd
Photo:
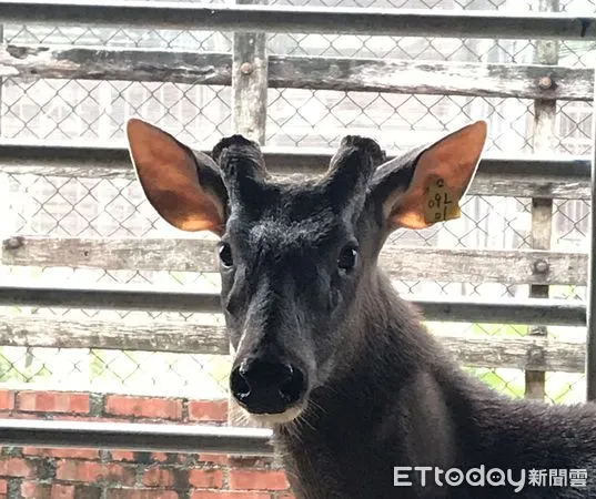
[[[213,160],[139,119],[127,123],[127,138],[143,192],[160,216],[182,231],[221,236],[228,193]]]

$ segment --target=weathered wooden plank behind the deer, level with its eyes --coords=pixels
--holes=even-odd
[[[444,283],[586,284],[587,255],[550,251],[447,249],[386,244],[380,266],[395,279]],[[219,272],[215,242],[190,238],[59,238],[14,236],[0,265],[111,271]]]

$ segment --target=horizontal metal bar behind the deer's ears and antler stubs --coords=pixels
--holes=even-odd
[[[210,154],[211,150],[198,149]],[[335,153],[331,147],[262,147],[267,167],[276,173],[323,173]],[[386,151],[387,159],[400,153]],[[484,157],[479,164],[479,172],[485,174],[507,175],[537,175],[548,177],[589,179],[592,157],[589,156],[560,156],[546,157],[536,155],[526,156],[494,156]],[[70,166],[75,169],[104,169],[132,172],[130,154],[122,146],[91,146],[83,144],[64,143],[0,143],[0,167],[17,173],[28,173],[27,169],[55,166]]]

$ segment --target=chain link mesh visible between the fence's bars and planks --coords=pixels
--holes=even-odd
[[[314,6],[309,0],[277,3]],[[387,7],[395,9],[483,9],[524,11],[536,1],[522,0],[331,0],[327,7]],[[596,0],[568,0],[560,10],[592,14]],[[151,31],[60,27],[4,26],[11,44],[178,49],[191,52],[231,52],[231,34],[212,31]],[[273,54],[395,58],[428,61],[532,63],[535,42],[527,40],[473,40],[329,34],[272,33]],[[595,67],[596,47],[588,42],[560,43],[559,63]],[[123,124],[141,115],[191,145],[210,147],[230,134],[229,86],[145,83],[129,81],[24,80],[7,78],[0,86],[0,138],[37,143],[124,143]],[[469,120],[486,118],[491,124],[488,154],[532,153],[534,101],[523,99],[388,94],[378,92],[270,89],[266,144],[336,146],[347,133],[377,139],[384,147],[405,150],[435,139]],[[556,152],[590,152],[592,108],[585,102],[557,104]],[[3,175],[3,177],[2,177]],[[85,179],[1,174],[2,236],[53,237],[184,237],[160,221],[144,201],[138,183],[127,179]],[[6,190],[6,192],[1,192]],[[555,201],[553,249],[587,248],[588,203]],[[531,200],[468,196],[464,216],[449,224],[418,232],[398,232],[392,242],[403,246],[465,248],[529,248]],[[214,274],[70,267],[0,267],[2,282],[34,282],[92,287],[97,284],[134,283],[164,288],[218,289]],[[495,283],[396,282],[404,295],[528,296],[528,286]],[[553,286],[553,297],[582,299],[584,287]],[[168,319],[192,324],[220,324],[206,314],[104,312],[89,309],[12,307],[13,314],[41,317]],[[527,327],[485,324],[430,324],[436,334],[517,336]],[[583,342],[584,328],[549,328],[565,340]],[[222,397],[226,393],[229,359],[222,356],[0,347],[0,383],[36,388],[67,388],[131,394],[180,394]],[[472,369],[486,383],[514,396],[523,396],[524,373],[515,369]],[[580,400],[584,377],[547,374],[547,394],[554,401]]]

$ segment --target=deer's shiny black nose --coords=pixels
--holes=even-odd
[[[230,389],[250,413],[280,414],[300,400],[305,380],[295,366],[252,358],[232,370]]]

